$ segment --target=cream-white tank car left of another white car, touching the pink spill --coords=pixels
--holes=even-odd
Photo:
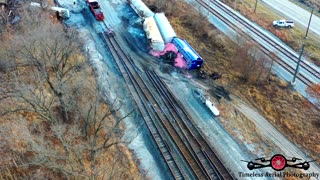
[[[163,51],[164,41],[153,17],[144,18],[143,30],[146,33],[151,48],[155,51]]]

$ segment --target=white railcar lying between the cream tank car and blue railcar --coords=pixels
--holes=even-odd
[[[168,18],[164,13],[156,13],[154,19],[158,25],[160,33],[165,43],[170,43],[177,34],[174,32]]]

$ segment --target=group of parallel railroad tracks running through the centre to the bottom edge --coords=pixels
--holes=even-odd
[[[101,23],[101,26],[105,26],[106,29],[104,23]],[[105,32],[100,33],[100,36],[116,61],[173,177],[175,179],[230,179],[231,177],[232,179],[209,144],[204,146],[199,142],[197,138],[200,137],[200,132],[195,128],[188,129],[188,125],[192,123],[191,121],[184,123],[181,118],[183,108],[177,100],[173,100],[174,96],[163,94],[170,91],[160,78],[154,72],[148,72],[147,76],[153,86],[148,84],[136,70],[131,58],[124,53],[116,38]],[[166,98],[163,98],[164,96]],[[174,106],[170,105],[171,102],[175,102]],[[192,130],[197,131],[196,136]],[[200,141],[206,142],[204,138]]]

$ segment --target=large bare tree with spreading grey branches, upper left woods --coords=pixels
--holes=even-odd
[[[28,107],[10,111],[30,110],[49,121],[56,120],[52,115],[59,112],[63,122],[70,122],[68,111],[75,103],[72,96],[76,96],[81,87],[81,83],[74,82],[85,66],[84,58],[77,57],[81,49],[77,33],[42,24],[41,28],[25,33],[15,41],[19,44],[14,44],[12,56],[29,69],[17,71],[16,89],[6,95],[22,100],[21,104],[28,104]],[[21,79],[29,79],[29,82]]]

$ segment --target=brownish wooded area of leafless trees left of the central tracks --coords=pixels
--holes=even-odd
[[[0,48],[0,179],[139,178],[121,139],[131,113],[105,103],[77,31],[24,13]]]

